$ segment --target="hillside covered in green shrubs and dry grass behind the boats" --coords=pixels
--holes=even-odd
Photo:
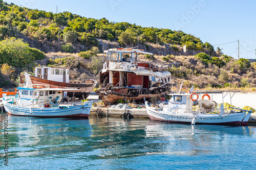
[[[38,64],[71,67],[72,79],[95,77],[104,62],[100,54],[103,50],[138,46],[153,53],[155,63],[168,64],[176,81],[184,80],[187,87],[193,83],[198,88],[255,90],[255,63],[234,60],[223,55],[220,48],[215,52],[210,43],[182,31],[86,18],[70,12],[54,14],[2,0],[0,10],[0,88],[17,86],[19,76],[24,71],[33,74]],[[187,49],[185,56],[183,45]]]

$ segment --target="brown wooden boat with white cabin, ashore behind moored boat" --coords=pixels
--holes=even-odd
[[[82,96],[86,99],[93,91],[97,81],[95,80],[69,80],[69,69],[67,67],[36,67],[35,76],[30,75],[32,84],[47,84],[50,88],[71,88],[75,90],[76,98]],[[74,91],[69,91],[72,96]]]

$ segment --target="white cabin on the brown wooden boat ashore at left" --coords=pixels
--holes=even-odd
[[[35,67],[35,76],[41,79],[69,83],[69,69],[65,67]]]

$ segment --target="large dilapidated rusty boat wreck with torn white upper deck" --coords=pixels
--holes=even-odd
[[[160,98],[170,89],[170,72],[167,65],[154,65],[138,61],[139,55],[153,55],[136,48],[106,50],[106,62],[99,72],[100,89],[95,92],[105,105],[118,100],[142,101]]]

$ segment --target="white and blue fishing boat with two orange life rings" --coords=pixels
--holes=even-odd
[[[233,107],[232,110],[227,110],[223,104],[220,105],[220,108],[217,108],[217,103],[210,100],[208,94],[204,94],[201,100],[198,100],[199,95],[195,92],[170,95],[172,95],[172,98],[168,101],[168,104],[160,104],[160,108],[150,107],[148,102],[145,102],[146,112],[151,120],[187,124],[247,126],[252,113],[251,110]],[[208,96],[209,100],[204,100],[205,95]],[[197,96],[197,99],[194,99],[195,96]],[[193,111],[193,105],[197,104],[199,108]]]

